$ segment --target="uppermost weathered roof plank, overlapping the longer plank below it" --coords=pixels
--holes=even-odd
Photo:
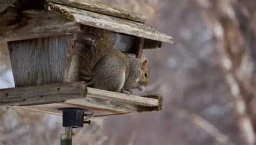
[[[140,23],[146,22],[146,17],[135,12],[119,8],[118,6],[106,4],[99,1],[76,1],[76,0],[47,0],[48,2],[69,5],[75,8],[88,10],[92,12],[102,13],[109,16],[138,21]]]

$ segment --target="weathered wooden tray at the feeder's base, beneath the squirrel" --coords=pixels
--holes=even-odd
[[[86,88],[84,82],[0,89],[0,98],[0,106],[15,105],[12,107],[57,115],[62,114],[62,108],[78,107],[86,108],[93,117],[161,111],[163,101],[159,95],[140,97]]]

